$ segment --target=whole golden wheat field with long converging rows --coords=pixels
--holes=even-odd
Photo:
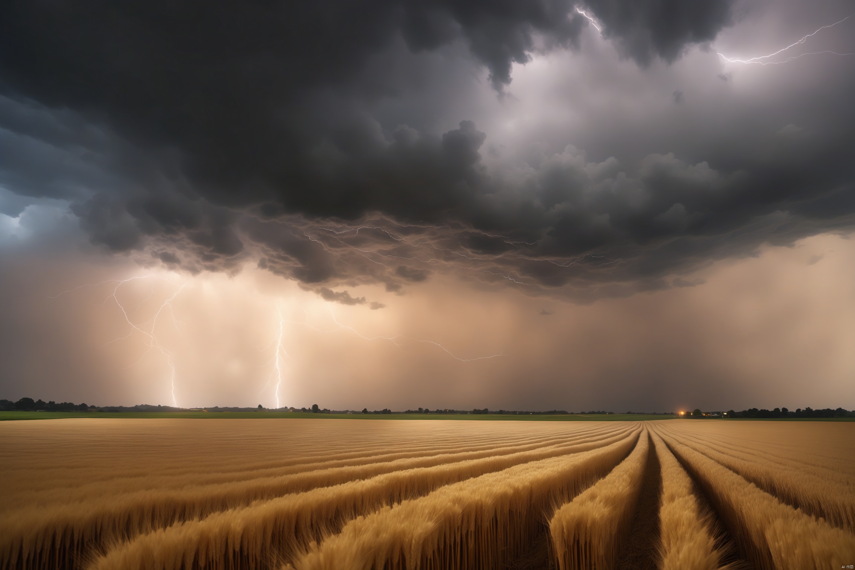
[[[855,424],[0,422],[0,569],[839,568]]]

